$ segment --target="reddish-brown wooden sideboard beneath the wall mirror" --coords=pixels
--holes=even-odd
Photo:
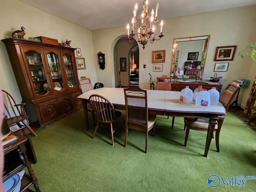
[[[221,91],[222,84],[208,84],[208,83],[201,83],[201,82],[173,82],[171,90],[172,91],[181,91],[182,89],[186,88],[186,86],[189,86],[189,88],[194,91],[196,88],[198,88],[199,85],[202,85],[203,89],[211,89],[212,87],[216,87],[216,90],[218,92]]]

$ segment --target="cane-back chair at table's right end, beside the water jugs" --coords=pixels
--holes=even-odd
[[[230,103],[232,102],[234,96],[237,94],[238,90],[240,89],[239,86],[240,82],[234,81],[228,86],[226,86],[225,90],[220,95],[219,102],[222,103],[222,105],[226,108],[226,111],[228,111],[228,108],[230,106]],[[220,130],[222,127],[222,123],[224,121],[225,116],[219,116],[217,123],[214,127],[215,133],[215,140],[216,140],[216,148],[217,152],[220,152],[219,147],[219,136],[220,136]],[[184,118],[185,122],[185,128],[186,128],[186,137],[185,137],[185,143],[184,146],[186,146],[188,141],[188,134],[189,130],[198,130],[198,131],[208,131],[208,125],[209,125],[209,118]],[[213,135],[212,135],[213,138]]]

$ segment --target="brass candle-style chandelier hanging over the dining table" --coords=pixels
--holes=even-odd
[[[150,43],[153,43],[154,40],[160,40],[164,35],[162,34],[162,27],[163,27],[163,20],[161,20],[160,23],[160,35],[158,36],[159,39],[155,39],[155,24],[158,22],[157,20],[157,14],[158,14],[158,7],[159,4],[156,5],[156,15],[154,16],[154,10],[151,11],[151,16],[148,14],[148,0],[144,0],[143,2],[143,11],[142,14],[140,14],[137,18],[137,8],[138,4],[136,3],[134,11],[133,11],[133,18],[132,18],[132,33],[129,34],[129,24],[127,24],[127,38],[129,42],[133,42],[134,40],[137,40],[140,44],[143,45],[143,49],[145,48],[145,45],[147,44],[148,40]],[[139,26],[141,24],[141,26]],[[138,27],[137,32],[134,32],[134,27]]]

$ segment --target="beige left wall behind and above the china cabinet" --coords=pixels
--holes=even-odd
[[[21,26],[26,28],[24,38],[45,36],[58,39],[58,42],[72,40],[73,48],[80,48],[85,58],[86,69],[78,70],[78,77],[90,77],[94,85],[97,82],[92,32],[25,4],[19,0],[1,0],[0,6],[0,39],[10,38]],[[6,47],[0,41],[0,87],[12,94],[17,102],[21,101],[20,92],[12,71]]]

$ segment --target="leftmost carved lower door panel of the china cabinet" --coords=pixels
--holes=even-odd
[[[54,116],[57,116],[59,114],[58,102],[55,99],[41,103],[38,105],[38,107],[39,107],[43,122],[51,118],[54,118]]]

